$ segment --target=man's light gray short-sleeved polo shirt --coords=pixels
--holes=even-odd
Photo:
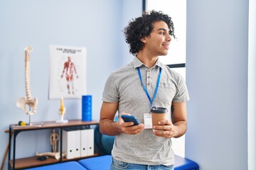
[[[171,102],[188,101],[188,91],[180,74],[174,72],[159,60],[154,67],[147,68],[134,57],[125,67],[110,74],[105,84],[102,101],[119,102],[118,113],[130,113],[144,122],[144,113],[149,113],[151,103],[139,80],[137,67],[140,68],[142,81],[151,98],[154,96],[159,67],[162,68],[159,89],[153,106],[168,109],[171,120]],[[174,164],[171,139],[156,137],[152,129],[144,129],[138,135],[119,134],[115,137],[112,157],[122,162],[148,165]]]

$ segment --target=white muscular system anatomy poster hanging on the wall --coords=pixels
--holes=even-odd
[[[86,94],[85,57],[85,47],[50,45],[49,99]]]

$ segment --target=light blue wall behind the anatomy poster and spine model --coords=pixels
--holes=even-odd
[[[18,120],[28,122],[28,115],[16,108],[18,98],[25,96],[23,48],[33,47],[31,91],[38,111],[32,122],[59,119],[60,101],[48,100],[50,44],[87,48],[87,94],[92,94],[92,118],[99,120],[105,81],[122,66],[124,56],[130,57],[122,47],[124,23],[141,13],[142,1],[137,0],[0,0],[0,160],[9,139],[4,130]],[[80,99],[64,104],[66,119],[81,118]],[[49,135],[49,130],[22,132],[16,157],[49,152]]]

